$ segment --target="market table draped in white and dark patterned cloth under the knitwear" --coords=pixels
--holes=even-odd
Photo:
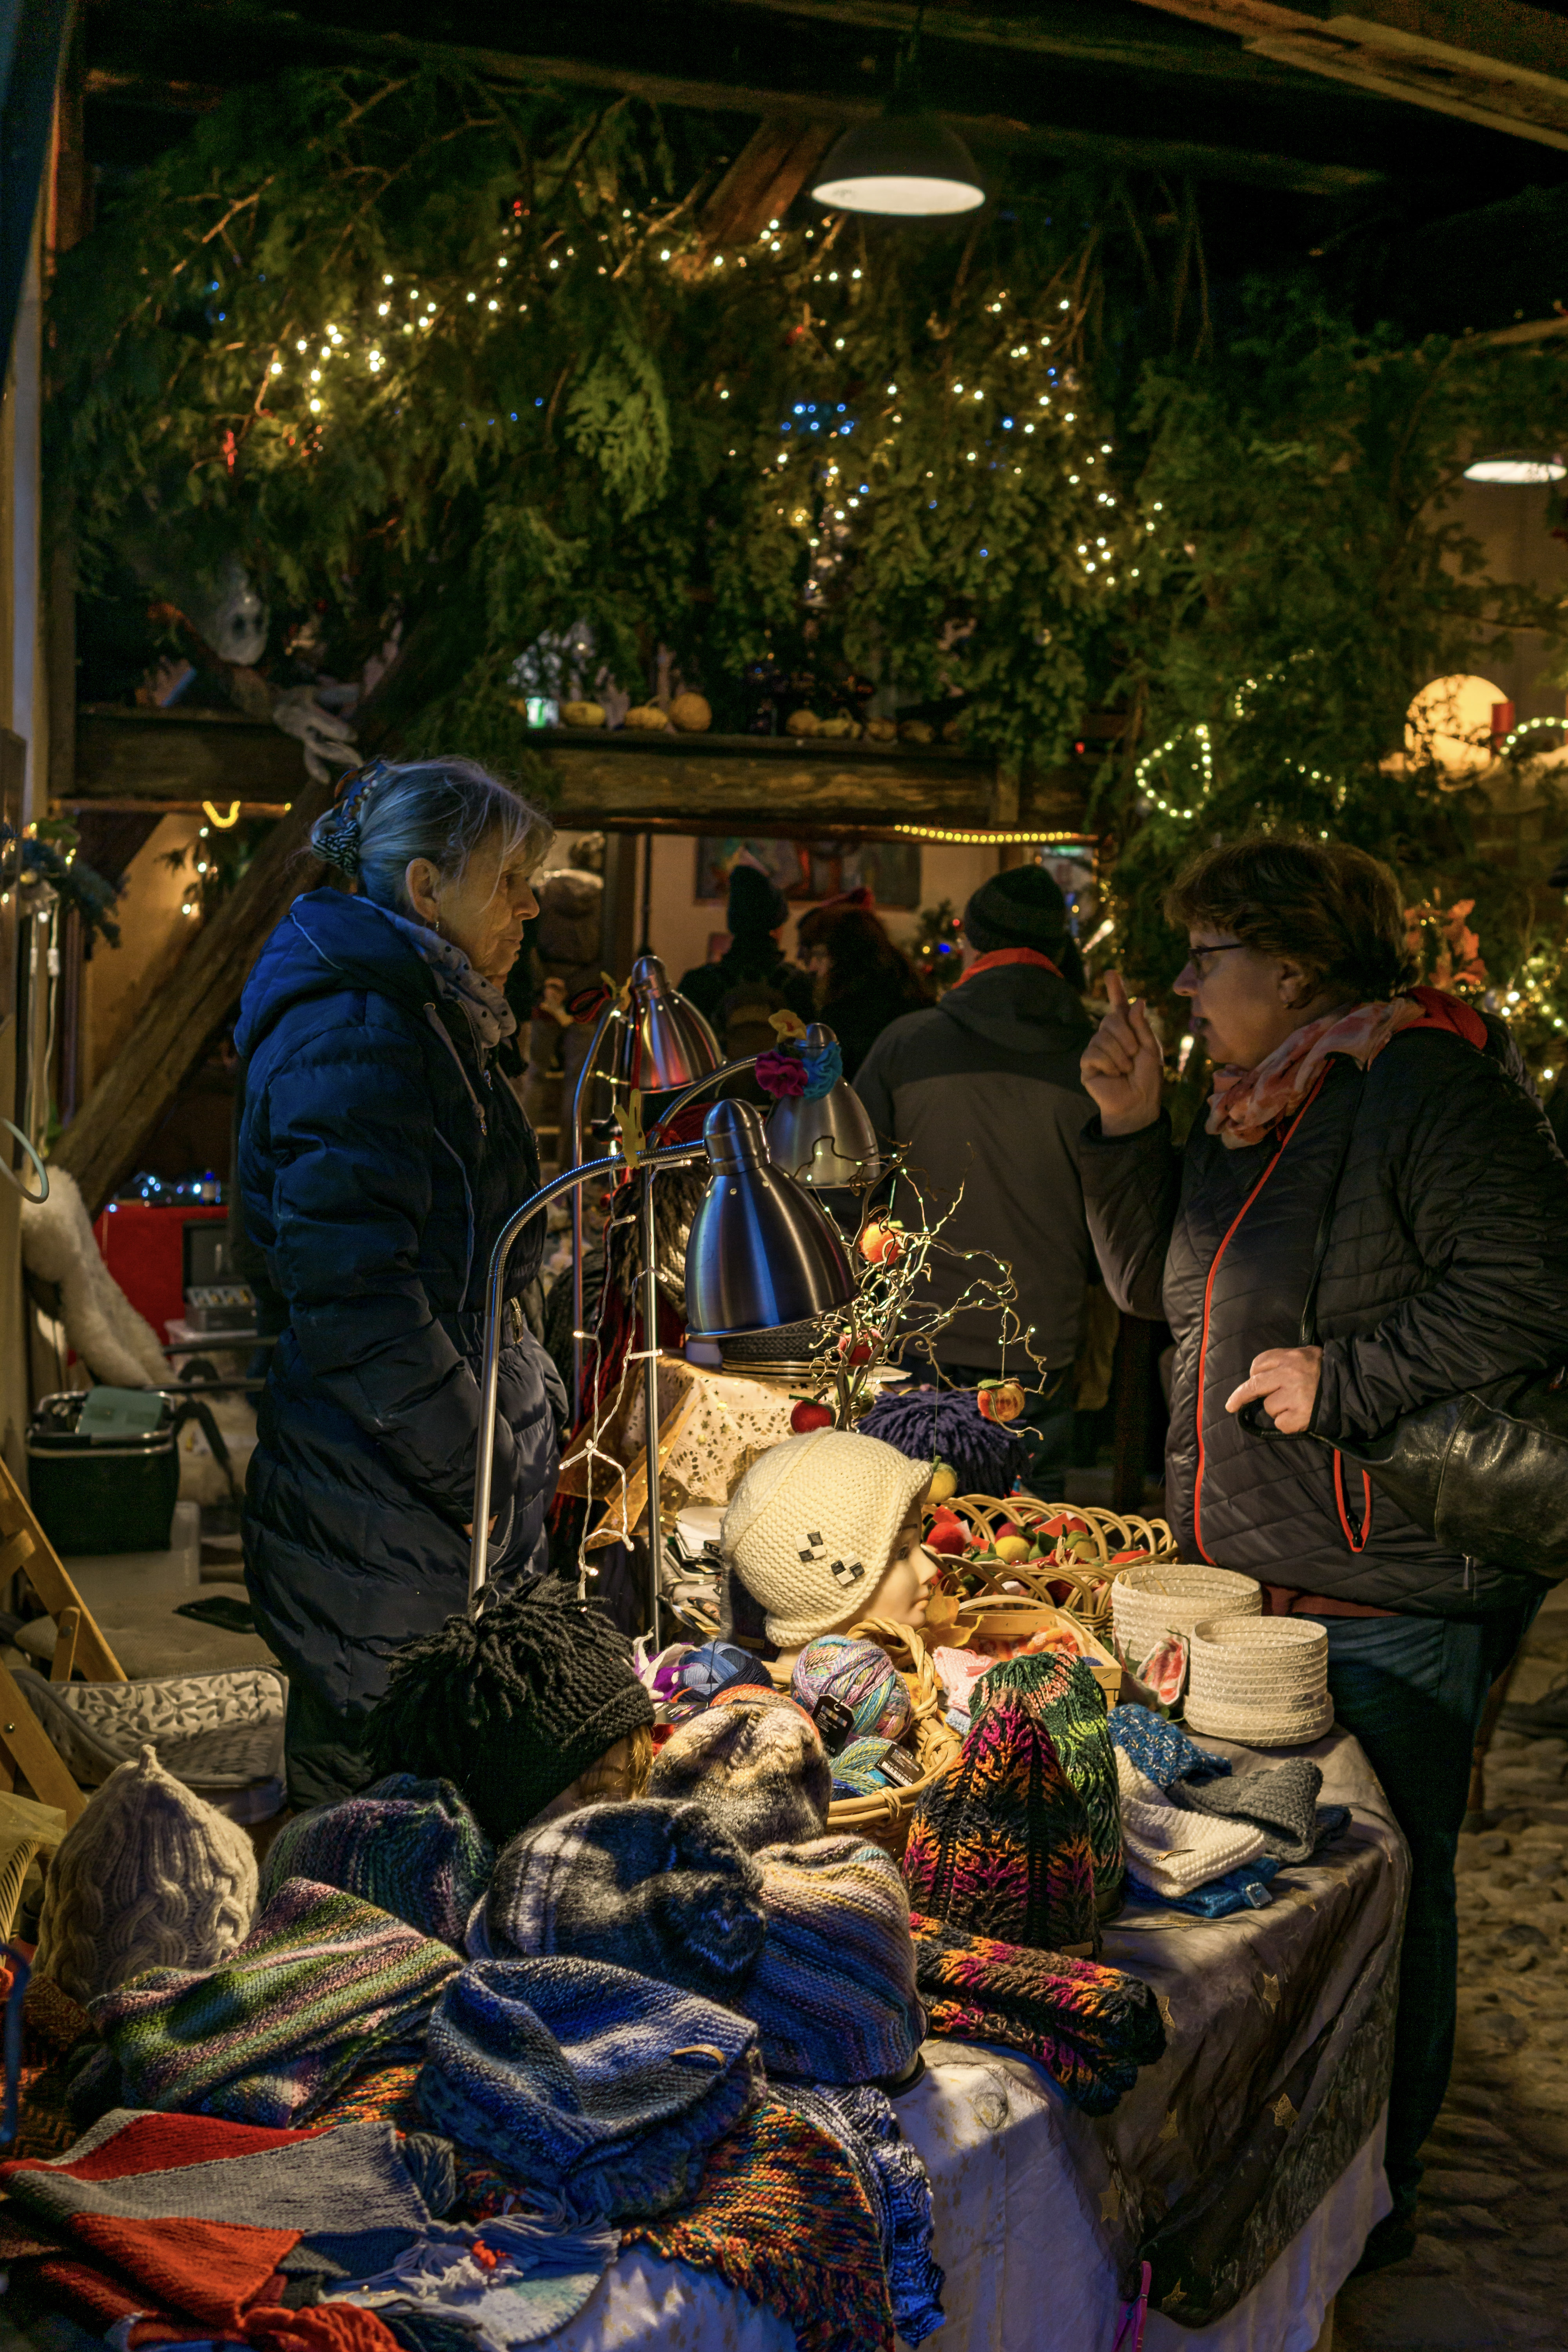
[[[1276,1752],[1204,1745],[1239,1771]],[[1138,2251],[1154,2265],[1145,2352],[1312,2352],[1389,2209],[1382,2107],[1408,1856],[1359,1743],[1300,1750],[1349,1828],[1274,1879],[1265,1910],[1194,1919],[1128,1905],[1105,1959],[1145,1978],[1168,2049],[1091,2122],[1044,2067],[926,2042],[898,2105],[931,2169],[947,2272],[943,2352],[1110,2352]],[[1194,2324],[1197,2321],[1197,2324]],[[773,2312],[684,2263],[628,2249],[559,2352],[790,2352]]]

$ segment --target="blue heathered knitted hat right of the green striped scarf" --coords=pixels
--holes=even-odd
[[[430,2018],[437,2131],[571,2220],[663,2213],[764,2091],[733,2009],[599,1959],[480,1959]]]

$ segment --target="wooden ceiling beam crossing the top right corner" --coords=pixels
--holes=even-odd
[[[1568,148],[1568,24],[1519,0],[1140,0],[1239,35],[1253,56]]]

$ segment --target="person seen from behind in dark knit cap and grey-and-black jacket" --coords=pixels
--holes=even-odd
[[[1016,866],[964,908],[964,976],[931,1011],[877,1037],[853,1087],[872,1127],[910,1145],[910,1171],[952,1251],[990,1251],[1013,1268],[1016,1315],[1046,1364],[1039,1383],[1023,1350],[1006,1369],[1025,1383],[1018,1435],[1032,1442],[1030,1489],[1058,1501],[1072,1458],[1072,1367],[1088,1287],[1098,1282],[1084,1218],[1079,1131],[1093,1103],[1079,1077],[1091,1021],[1067,901],[1044,866]],[[893,1209],[898,1204],[893,1202]],[[926,1298],[950,1308],[973,1268],[933,1258]],[[940,1338],[940,1369],[959,1388],[1004,1367],[999,1317],[964,1310]]]

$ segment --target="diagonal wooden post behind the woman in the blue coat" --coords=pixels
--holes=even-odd
[[[320,880],[310,826],[331,783],[308,783],[266,837],[242,880],[205,917],[172,976],[143,1004],[120,1056],[92,1089],[54,1152],[96,1216],[127,1176],[169,1103],[235,1009],[263,938],[289,901]]]

